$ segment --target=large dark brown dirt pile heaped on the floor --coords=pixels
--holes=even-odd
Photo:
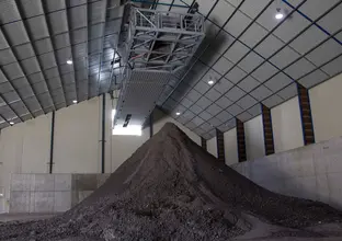
[[[326,204],[258,186],[167,124],[81,204],[0,225],[0,240],[341,240],[341,221]]]

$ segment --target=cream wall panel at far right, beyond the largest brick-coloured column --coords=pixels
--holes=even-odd
[[[316,141],[342,136],[342,74],[309,90]]]

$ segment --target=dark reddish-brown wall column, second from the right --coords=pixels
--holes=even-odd
[[[271,110],[269,107],[262,104],[261,108],[262,108],[262,125],[264,133],[265,154],[269,156],[274,153],[272,116]]]

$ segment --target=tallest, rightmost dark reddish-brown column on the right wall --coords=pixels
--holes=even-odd
[[[315,133],[311,116],[309,91],[299,83],[297,84],[297,88],[298,88],[298,100],[301,117],[304,145],[315,144]]]

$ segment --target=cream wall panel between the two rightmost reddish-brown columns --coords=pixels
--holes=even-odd
[[[272,108],[271,115],[275,152],[304,146],[298,97]]]

